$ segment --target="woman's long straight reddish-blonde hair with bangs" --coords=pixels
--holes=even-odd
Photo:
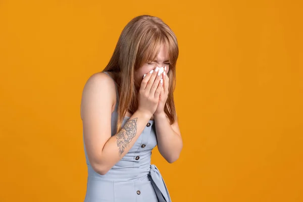
[[[119,75],[116,83],[119,91],[118,120],[119,132],[125,114],[138,109],[137,89],[134,72],[147,61],[153,61],[159,54],[161,45],[167,46],[169,54],[169,93],[164,112],[173,124],[176,117],[173,92],[176,86],[176,62],[179,56],[177,38],[170,27],[160,18],[142,15],[133,18],[122,30],[113,56],[103,71]],[[117,100],[118,102],[118,100]]]

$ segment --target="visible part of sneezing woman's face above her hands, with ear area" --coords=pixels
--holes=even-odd
[[[141,66],[139,69],[135,71],[135,80],[141,84],[141,81],[143,80],[143,75],[150,72],[150,70],[155,70],[156,67],[165,67],[167,74],[169,71],[169,55],[166,48],[166,45],[162,44],[160,47],[160,52],[158,56],[156,57],[155,61],[149,61],[148,63],[145,63],[143,66]]]

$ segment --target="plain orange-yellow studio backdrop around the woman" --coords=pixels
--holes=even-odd
[[[82,88],[142,14],[179,41],[173,202],[303,201],[299,2],[1,1],[0,201],[84,200]]]

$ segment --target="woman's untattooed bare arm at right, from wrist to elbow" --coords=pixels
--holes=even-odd
[[[158,149],[167,162],[175,162],[181,153],[183,142],[178,122],[170,125],[166,114],[154,115]]]

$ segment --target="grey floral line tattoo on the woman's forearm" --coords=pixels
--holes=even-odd
[[[119,146],[119,155],[121,156],[125,148],[129,146],[129,143],[134,138],[137,132],[137,119],[134,118],[128,120],[120,132],[117,134],[117,145]]]

